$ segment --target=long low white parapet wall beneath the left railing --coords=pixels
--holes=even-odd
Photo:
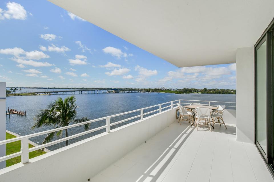
[[[87,181],[176,121],[174,109],[0,170],[0,181]]]

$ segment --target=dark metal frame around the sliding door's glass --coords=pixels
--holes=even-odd
[[[257,142],[257,50],[266,41],[266,151]],[[255,146],[274,176],[274,18],[254,45]]]

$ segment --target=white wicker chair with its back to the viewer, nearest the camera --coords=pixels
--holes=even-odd
[[[197,130],[199,128],[199,124],[202,120],[205,121],[205,124],[204,125],[207,125],[211,131],[211,126],[210,126],[210,117],[211,117],[211,112],[212,112],[212,109],[210,109],[209,107],[205,107],[205,106],[202,106],[202,107],[197,107],[195,110],[195,121],[197,121]],[[195,126],[196,126],[196,123],[195,123]]]

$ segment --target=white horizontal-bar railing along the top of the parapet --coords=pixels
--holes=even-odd
[[[115,115],[111,115],[111,116],[101,117],[101,118],[98,118],[98,119],[93,119],[93,120],[90,120],[90,121],[85,121],[85,122],[82,122],[82,123],[77,123],[77,124],[73,124],[73,125],[69,125],[69,126],[65,126],[65,127],[60,127],[60,128],[56,128],[56,129],[51,129],[51,130],[47,130],[47,131],[33,133],[33,134],[30,134],[30,135],[25,135],[25,136],[21,136],[21,137],[11,138],[11,139],[8,139],[8,140],[3,140],[3,141],[0,141],[0,145],[21,140],[21,151],[10,154],[10,155],[7,155],[7,156],[0,157],[0,162],[11,159],[11,158],[14,158],[14,157],[17,157],[17,156],[21,156],[21,162],[23,164],[25,164],[25,163],[29,162],[29,152],[33,152],[35,150],[46,148],[48,146],[55,145],[55,144],[58,144],[60,142],[64,142],[66,140],[70,140],[72,138],[80,137],[82,135],[86,135],[88,133],[92,133],[94,131],[98,131],[98,130],[101,130],[101,129],[106,129],[106,132],[109,133],[110,132],[110,127],[114,126],[114,125],[117,125],[119,123],[123,123],[125,121],[129,121],[129,120],[132,120],[132,119],[135,119],[135,118],[138,118],[138,117],[140,117],[141,120],[144,120],[145,115],[148,115],[150,113],[154,113],[154,112],[157,112],[157,111],[159,111],[159,113],[162,113],[163,109],[166,109],[168,107],[170,107],[170,109],[173,109],[174,105],[176,106],[176,104],[190,104],[190,103],[184,103],[182,101],[208,102],[208,104],[203,104],[203,105],[208,105],[208,106],[217,106],[217,105],[212,105],[211,102],[218,102],[218,101],[204,101],[204,100],[200,100],[200,101],[199,100],[174,100],[174,101],[171,101],[171,102],[166,102],[166,103],[157,104],[157,105],[154,105],[154,106],[144,107],[144,108],[141,108],[141,109],[136,109],[136,110],[133,110],[133,111],[128,111],[128,112],[115,114]],[[176,103],[174,104],[174,102],[176,102]],[[218,103],[235,104],[235,102],[218,102]],[[166,105],[166,104],[170,104],[170,105],[162,107],[162,105]],[[150,109],[150,108],[157,107],[157,106],[159,107],[159,109],[144,113],[145,109]],[[229,106],[229,107],[235,107],[235,106]],[[130,118],[127,118],[127,119],[123,119],[121,121],[110,123],[110,118],[125,115],[125,114],[129,114],[129,113],[134,113],[134,112],[138,112],[138,111],[140,111],[140,115],[136,115],[134,117],[130,117]],[[52,142],[48,142],[48,143],[45,143],[45,144],[41,144],[41,145],[38,145],[38,146],[35,146],[35,147],[32,147],[32,148],[29,148],[29,138],[37,137],[37,136],[40,136],[40,135],[45,135],[45,134],[48,134],[48,133],[51,133],[51,132],[56,132],[56,131],[60,131],[60,130],[68,129],[68,128],[77,127],[77,126],[88,124],[88,123],[93,123],[93,122],[100,121],[100,120],[105,120],[106,125],[98,127],[98,128],[90,129],[88,131],[84,131],[84,132],[81,132],[81,133],[77,133],[77,134],[71,135],[69,137],[61,138],[61,139],[58,139],[58,140],[54,140]]]

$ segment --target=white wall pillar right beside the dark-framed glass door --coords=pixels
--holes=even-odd
[[[254,143],[254,47],[236,50],[236,140]]]

